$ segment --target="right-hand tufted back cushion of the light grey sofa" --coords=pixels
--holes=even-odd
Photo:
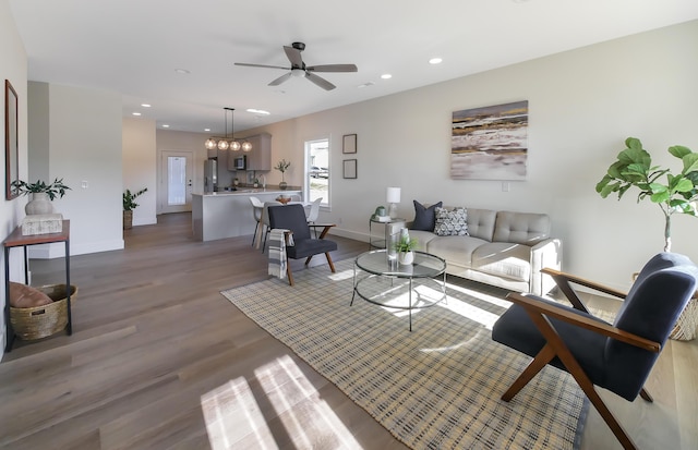
[[[550,217],[531,212],[497,212],[493,241],[535,245],[550,238]]]

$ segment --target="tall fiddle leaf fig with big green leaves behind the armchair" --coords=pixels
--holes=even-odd
[[[683,163],[681,172],[674,174],[670,169],[652,166],[652,157],[637,137],[625,139],[625,146],[597,184],[597,192],[603,198],[617,192],[621,199],[628,190],[637,187],[637,203],[648,198],[659,205],[664,214],[664,252],[671,252],[672,215],[698,215],[698,154],[682,145],[669,147],[669,153]]]

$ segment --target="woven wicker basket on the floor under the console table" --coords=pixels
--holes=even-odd
[[[68,289],[65,284],[49,284],[36,288],[53,303],[44,306],[10,307],[10,324],[17,338],[34,340],[57,333],[68,325]],[[77,287],[71,284],[71,304],[77,296]]]

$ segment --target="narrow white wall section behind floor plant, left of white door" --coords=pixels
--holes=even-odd
[[[123,191],[147,192],[141,195],[133,210],[133,224],[157,223],[157,163],[155,121],[148,119],[123,119]]]

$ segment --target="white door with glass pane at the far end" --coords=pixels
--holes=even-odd
[[[182,212],[192,210],[193,151],[163,150],[160,173],[163,195],[160,212]]]

